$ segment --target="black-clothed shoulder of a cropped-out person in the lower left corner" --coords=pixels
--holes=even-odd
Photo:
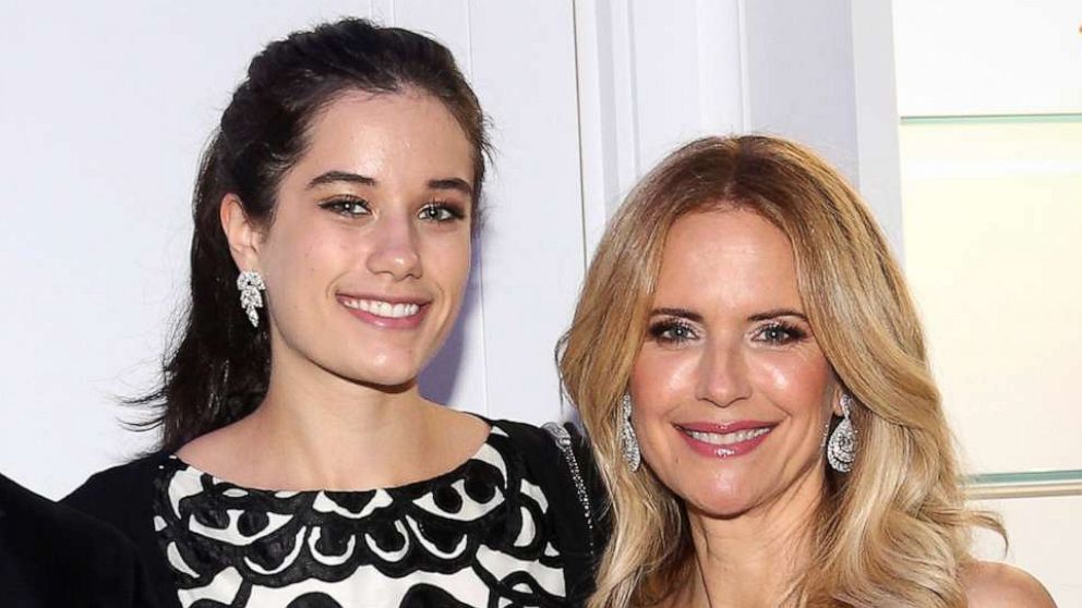
[[[112,527],[0,475],[0,604],[152,606],[135,547]]]

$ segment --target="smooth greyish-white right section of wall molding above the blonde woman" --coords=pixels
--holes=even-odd
[[[891,2],[743,5],[749,129],[792,137],[839,167],[900,255]]]

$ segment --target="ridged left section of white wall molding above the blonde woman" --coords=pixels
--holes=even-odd
[[[744,129],[741,4],[575,2],[587,251],[662,157]]]

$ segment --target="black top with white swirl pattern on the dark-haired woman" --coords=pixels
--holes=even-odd
[[[243,488],[158,453],[65,502],[134,542],[163,606],[580,606],[604,538],[592,460],[577,433],[565,451],[491,424],[468,462],[395,488]]]

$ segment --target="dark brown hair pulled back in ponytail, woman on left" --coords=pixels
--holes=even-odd
[[[308,148],[321,110],[348,92],[417,93],[443,102],[473,148],[472,229],[480,216],[489,142],[477,96],[446,47],[420,34],[344,19],[297,32],[252,59],[203,154],[193,195],[191,301],[167,353],[161,386],[133,400],[156,408],[136,426],[161,427],[159,448],[251,413],[267,389],[270,345],[265,313],[255,330],[239,305],[239,269],[219,219],[226,194],[251,221],[269,227],[282,177]]]

